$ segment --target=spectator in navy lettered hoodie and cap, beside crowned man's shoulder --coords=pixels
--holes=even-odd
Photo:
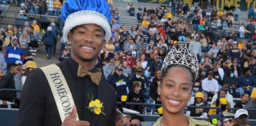
[[[118,66],[114,69],[114,74],[107,77],[107,82],[115,88],[116,101],[121,101],[123,95],[128,95],[128,77],[123,75],[123,68]],[[118,109],[122,111],[122,106],[118,105]]]

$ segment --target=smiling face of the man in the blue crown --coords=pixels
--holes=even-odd
[[[104,30],[95,24],[75,27],[68,35],[71,57],[82,62],[95,61],[104,44],[104,35]]]

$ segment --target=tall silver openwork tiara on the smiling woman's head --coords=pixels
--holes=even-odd
[[[194,73],[195,78],[197,77],[197,73],[199,71],[197,56],[195,53],[190,52],[187,49],[187,46],[178,50],[173,46],[173,48],[170,49],[170,52],[164,58],[161,71],[163,72],[165,68],[173,65],[188,67]]]

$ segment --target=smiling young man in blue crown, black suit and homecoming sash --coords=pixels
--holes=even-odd
[[[62,6],[61,18],[65,21],[63,36],[71,44],[71,56],[57,66],[29,73],[16,125],[115,125],[114,87],[95,67],[98,54],[111,36],[108,4],[68,0]],[[98,104],[89,105],[92,100]],[[101,113],[102,106],[105,114]]]

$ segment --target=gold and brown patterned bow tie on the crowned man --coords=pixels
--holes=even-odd
[[[98,86],[98,85],[100,85],[100,82],[101,82],[102,73],[92,73],[92,72],[89,72],[86,69],[86,67],[80,66],[80,64],[79,64],[77,76],[78,77],[89,76],[89,77],[91,77],[92,82],[95,83]]]

